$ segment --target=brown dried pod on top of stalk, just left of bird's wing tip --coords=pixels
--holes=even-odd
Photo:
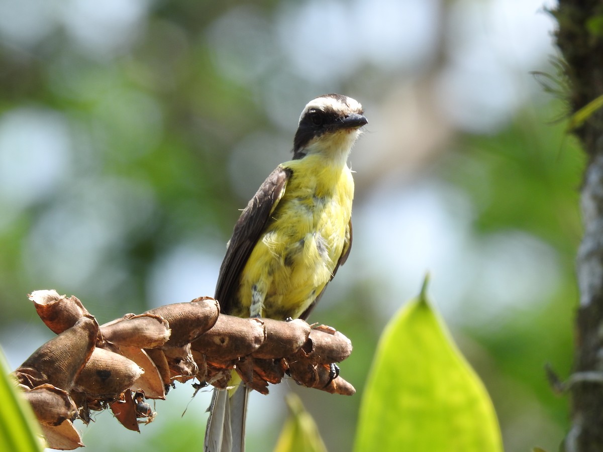
[[[219,315],[219,304],[210,297],[195,298],[191,303],[166,304],[145,312],[160,315],[169,323],[172,335],[165,344],[182,347],[213,327]]]

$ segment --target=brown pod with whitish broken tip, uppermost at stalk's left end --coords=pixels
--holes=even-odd
[[[76,297],[58,295],[56,290],[34,290],[28,295],[36,312],[53,333],[60,334],[90,313]]]

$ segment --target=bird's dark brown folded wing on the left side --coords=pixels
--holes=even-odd
[[[236,292],[239,288],[239,276],[271,213],[285,192],[285,184],[290,176],[291,171],[282,166],[271,172],[235,224],[220,267],[214,295],[220,303],[221,312],[225,314],[230,313],[238,303]]]

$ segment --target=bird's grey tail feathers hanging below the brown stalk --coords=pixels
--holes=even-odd
[[[205,429],[203,452],[245,452],[245,415],[249,390],[214,389]]]

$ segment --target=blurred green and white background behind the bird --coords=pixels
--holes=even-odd
[[[248,450],[274,446],[288,391],[329,450],[350,449],[377,338],[426,271],[506,449],[557,450],[567,400],[543,366],[571,365],[584,159],[566,133],[554,5],[0,0],[10,365],[52,336],[32,290],[76,295],[100,322],[212,295],[239,209],[289,159],[301,109],[338,92],[369,124],[350,158],[352,254],[311,320],[352,339],[341,368],[358,394],[287,381],[252,397]],[[192,392],[178,385],[140,435],[99,413],[87,450],[199,450],[210,395]]]

